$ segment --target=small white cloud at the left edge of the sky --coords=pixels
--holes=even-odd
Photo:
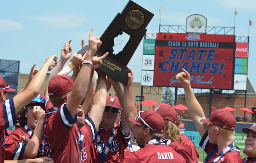
[[[0,19],[0,31],[22,30],[22,25],[16,21]]]

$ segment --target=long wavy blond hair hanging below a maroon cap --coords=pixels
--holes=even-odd
[[[172,141],[179,141],[181,142],[182,137],[180,136],[180,129],[178,128],[178,126],[176,126],[175,123],[165,119],[165,127],[166,127],[166,131],[168,134],[168,138],[171,139]]]

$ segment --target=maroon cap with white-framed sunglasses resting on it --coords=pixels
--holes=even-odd
[[[164,119],[153,110],[139,111],[136,117],[129,117],[129,121],[136,125],[148,127],[156,133],[164,131]]]

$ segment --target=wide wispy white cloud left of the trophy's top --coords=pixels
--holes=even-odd
[[[34,15],[30,17],[52,27],[80,27],[87,20],[84,13]]]

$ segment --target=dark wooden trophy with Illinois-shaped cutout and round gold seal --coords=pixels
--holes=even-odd
[[[129,0],[123,11],[118,13],[100,37],[102,45],[95,56],[109,55],[102,60],[99,70],[127,85],[129,73],[126,67],[136,48],[146,33],[146,26],[154,14]],[[120,36],[119,36],[120,35]],[[124,35],[127,42],[117,39]],[[114,50],[117,48],[118,52]],[[120,50],[120,51],[119,51]]]

